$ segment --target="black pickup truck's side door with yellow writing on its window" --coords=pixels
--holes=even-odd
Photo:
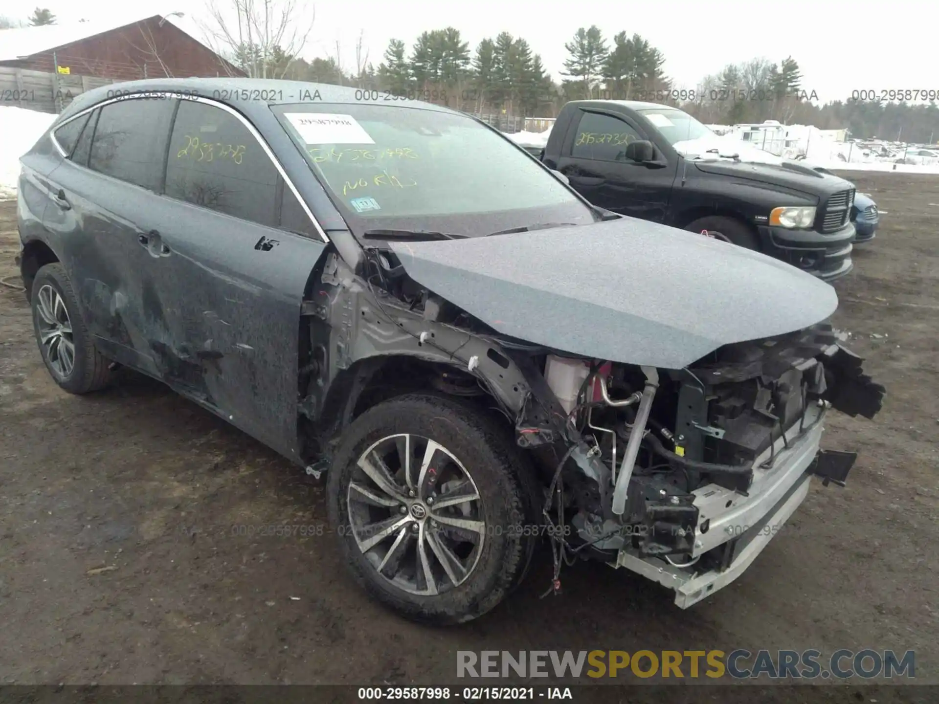
[[[626,159],[626,145],[648,137],[628,118],[578,110],[564,137],[558,171],[594,206],[663,222],[675,164],[650,167]]]

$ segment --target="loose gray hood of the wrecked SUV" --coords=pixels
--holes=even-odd
[[[599,360],[680,369],[838,307],[788,264],[633,218],[391,247],[408,276],[500,333]]]

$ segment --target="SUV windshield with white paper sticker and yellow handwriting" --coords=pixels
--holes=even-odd
[[[558,179],[469,116],[348,103],[273,110],[356,234],[407,229],[475,237],[595,222]]]

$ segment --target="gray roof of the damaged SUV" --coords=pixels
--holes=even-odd
[[[238,108],[243,113],[258,109],[267,109],[268,105],[289,105],[297,103],[353,104],[370,103],[396,107],[421,108],[446,113],[457,111],[442,105],[435,105],[422,100],[388,99],[388,91],[361,90],[345,85],[315,84],[305,81],[285,81],[260,78],[237,78],[221,76],[217,78],[154,78],[144,81],[104,85],[90,90],[74,99],[67,114],[73,115],[79,110],[115,95],[124,93],[179,92],[202,98],[215,99]],[[64,113],[63,115],[66,115]]]

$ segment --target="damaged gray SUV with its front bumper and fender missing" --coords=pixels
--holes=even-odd
[[[355,579],[408,618],[489,611],[537,544],[687,607],[854,454],[884,396],[834,289],[592,207],[499,132],[332,85],[147,81],[22,159],[21,268],[72,393],[126,366],[318,476]],[[314,566],[311,566],[315,569]],[[819,565],[820,569],[824,565]]]

